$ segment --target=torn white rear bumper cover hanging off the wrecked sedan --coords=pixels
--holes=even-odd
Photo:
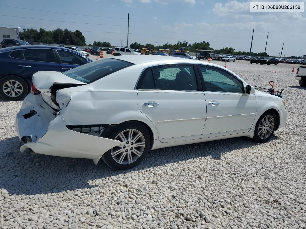
[[[17,114],[15,129],[21,140],[22,153],[26,148],[30,148],[38,154],[88,158],[97,164],[106,151],[123,144],[120,141],[69,130],[64,117],[53,115],[54,111],[43,103],[40,96],[29,94]],[[35,112],[28,118],[25,114],[30,110]]]

